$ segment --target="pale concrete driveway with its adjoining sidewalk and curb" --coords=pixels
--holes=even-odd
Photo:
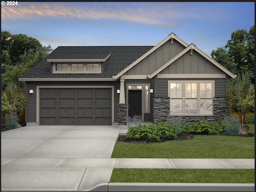
[[[110,158],[119,132],[68,125],[2,132],[2,191],[254,191],[254,184],[110,183],[114,168],[254,169],[254,159]]]

